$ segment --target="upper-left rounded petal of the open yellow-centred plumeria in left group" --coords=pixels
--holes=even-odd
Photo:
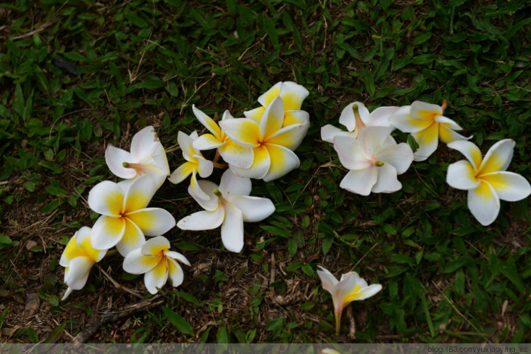
[[[124,194],[117,183],[100,182],[89,192],[89,207],[98,214],[118,217],[122,212]]]

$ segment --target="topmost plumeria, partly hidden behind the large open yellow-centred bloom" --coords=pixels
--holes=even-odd
[[[280,81],[275,86],[265,91],[260,97],[258,102],[262,107],[255,108],[244,112],[246,118],[252,119],[257,123],[260,123],[265,108],[270,105],[271,102],[277,97],[282,98],[284,101],[285,116],[282,121],[282,127],[292,124],[306,124],[309,125],[309,115],[304,110],[300,110],[302,101],[307,98],[309,92],[304,86],[295,84],[293,81]]]

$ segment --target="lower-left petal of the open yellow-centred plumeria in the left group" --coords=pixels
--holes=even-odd
[[[125,219],[122,217],[99,217],[91,232],[91,244],[94,249],[110,249],[116,246],[125,233]]]

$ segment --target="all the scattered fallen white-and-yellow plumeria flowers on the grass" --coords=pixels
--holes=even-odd
[[[163,287],[168,278],[174,287],[181,285],[181,263],[190,263],[181,253],[171,251],[170,241],[162,236],[175,226],[183,230],[220,227],[225,249],[240,252],[244,246],[244,222],[259,222],[275,211],[268,198],[250,196],[251,178],[273,181],[299,166],[294,150],[309,128],[309,114],[300,109],[308,94],[303,86],[279,82],[258,98],[261,107],[244,112],[244,118],[234,118],[227,110],[219,123],[193,106],[193,114],[208,133],[178,132],[185,162],[171,174],[166,152],[153,127],[145,127],[132,138],[130,152],[108,147],[106,164],[123,180],[103,181],[90,191],[89,207],[101,216],[92,229],[79,229],[64,249],[60,264],[66,267],[64,282],[68,289],[63,299],[72,290],[84,287],[91,267],[114,246],[124,257],[123,269],[144,274],[144,284],[151,294]],[[442,115],[444,109],[444,104],[440,107],[416,101],[370,113],[363,103],[347,105],[339,118],[347,131],[332,125],[321,128],[321,138],[333,144],[341,164],[349,170],[341,188],[360,195],[400,190],[397,176],[405,173],[413,161],[423,161],[433,154],[440,139],[467,158],[448,167],[447,183],[468,190],[469,209],[481,224],[488,225],[496,219],[500,199],[527,198],[531,193],[527,180],[506,171],[515,142],[501,140],[482,159],[479,148],[468,141],[472,137],[455,132],[462,128]],[[411,133],[418,144],[415,152],[409,144],[397,143],[392,137],[396,128]],[[201,153],[210,149],[216,150],[212,161]],[[219,185],[198,180],[198,175],[210,177],[215,168],[227,169]],[[188,193],[203,211],[176,222],[166,210],[148,207],[166,178],[171,183],[181,183],[189,176]],[[354,300],[375,295],[382,285],[367,285],[355,272],[337,280],[320,268],[317,273],[324,290],[331,293],[339,333],[343,309]]]

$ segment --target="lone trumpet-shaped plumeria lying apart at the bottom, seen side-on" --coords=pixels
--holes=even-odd
[[[372,297],[382,290],[382,285],[367,285],[367,282],[360,278],[356,272],[341,275],[341,280],[337,280],[328,270],[319,265],[321,270],[317,270],[317,275],[321,278],[323,289],[330,292],[333,301],[333,312],[336,315],[336,334],[341,331],[341,314],[343,309],[350,302],[364,300]]]

